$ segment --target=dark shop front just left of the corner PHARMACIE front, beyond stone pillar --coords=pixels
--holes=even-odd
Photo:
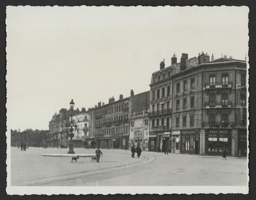
[[[180,131],[181,153],[199,154],[200,129],[186,129]]]

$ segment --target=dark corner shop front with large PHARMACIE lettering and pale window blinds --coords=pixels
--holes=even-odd
[[[231,155],[232,136],[231,130],[227,129],[207,129],[205,130],[205,153],[208,155],[222,155],[226,149]]]

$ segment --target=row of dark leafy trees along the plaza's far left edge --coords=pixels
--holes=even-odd
[[[63,141],[64,140],[64,141]],[[49,130],[32,130],[17,131],[11,129],[11,146],[18,147],[21,143],[25,143],[30,147],[49,147],[57,145],[59,142],[67,143],[68,134],[64,132],[50,133]]]

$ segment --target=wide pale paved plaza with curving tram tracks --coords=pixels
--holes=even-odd
[[[95,149],[75,148],[75,153],[95,154]],[[247,160],[130,150],[102,149],[100,162],[80,157],[41,156],[67,153],[68,149],[11,148],[12,186],[246,186]]]

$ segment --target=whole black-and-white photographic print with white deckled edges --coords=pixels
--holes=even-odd
[[[249,191],[247,6],[6,6],[6,193]]]

